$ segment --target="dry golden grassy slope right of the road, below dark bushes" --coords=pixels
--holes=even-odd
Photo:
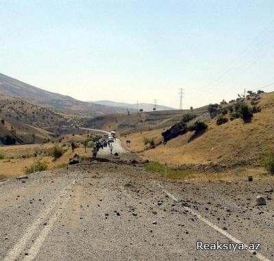
[[[249,102],[250,103],[250,102]],[[191,132],[171,139],[166,144],[140,152],[146,159],[168,163],[175,166],[183,164],[206,164],[208,166],[256,166],[260,165],[262,152],[268,146],[274,146],[274,93],[261,95],[259,105],[261,113],[256,113],[250,123],[240,118],[216,125],[216,117],[208,114],[203,119],[208,124],[206,133],[189,142]],[[125,139],[131,139],[133,150],[143,150],[144,137],[158,139],[162,130],[147,133],[133,133]],[[151,133],[151,134],[150,134]]]

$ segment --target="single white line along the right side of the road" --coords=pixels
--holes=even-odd
[[[173,201],[179,201],[175,196],[173,196],[173,194],[171,194],[170,192],[168,192],[167,190],[165,190],[162,185],[160,185],[159,183],[158,183],[158,185],[160,186],[160,188],[162,188],[163,192],[166,193],[166,195],[168,195],[170,198],[173,199]],[[230,235],[229,233],[227,233],[226,231],[224,231],[220,227],[214,225],[212,222],[210,222],[210,220],[207,220],[206,218],[203,218],[201,216],[201,214],[199,214],[199,212],[191,209],[190,207],[185,207],[184,206],[184,209],[188,210],[188,212],[190,212],[193,216],[196,216],[199,220],[203,221],[203,223],[206,223],[207,225],[209,225],[210,227],[212,227],[213,229],[215,229],[216,231],[218,231],[219,233],[221,233],[223,236],[225,236],[229,240],[232,240],[232,241],[236,242],[237,244],[243,244],[243,245],[245,245],[245,249],[248,249],[248,245],[246,245],[242,241],[238,240],[234,236]],[[252,250],[248,249],[247,251],[249,251],[250,253],[253,253]],[[262,261],[271,261],[271,260],[269,260],[268,258],[266,258],[265,256],[263,256],[262,254],[260,254],[258,252],[256,252],[255,257],[258,258],[259,260],[262,260]]]

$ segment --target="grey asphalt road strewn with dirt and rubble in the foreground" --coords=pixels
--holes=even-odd
[[[175,181],[138,161],[86,160],[1,183],[0,194],[0,260],[274,260],[273,184],[263,180]],[[258,194],[266,205],[253,203]]]

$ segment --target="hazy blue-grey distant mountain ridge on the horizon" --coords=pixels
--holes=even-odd
[[[137,110],[137,104],[129,104],[126,102],[112,102],[110,100],[99,100],[96,102],[93,102],[94,104],[101,104],[105,106],[116,106],[116,107],[122,107],[122,108],[127,108],[127,109],[135,109]],[[140,103],[138,104],[138,109],[143,109],[144,111],[153,111],[153,108],[155,107],[154,104],[149,104],[149,103]],[[175,110],[172,107],[169,106],[164,106],[164,105],[156,105],[157,111],[171,111]]]

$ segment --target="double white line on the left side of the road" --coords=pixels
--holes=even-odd
[[[16,245],[14,245],[14,247],[11,249],[10,253],[8,253],[8,255],[5,256],[5,259],[3,261],[11,261],[11,260],[16,260],[18,258],[19,254],[21,253],[21,251],[23,251],[28,240],[30,240],[32,238],[32,235],[35,233],[35,231],[41,225],[43,220],[45,220],[45,218],[47,218],[47,216],[55,208],[55,206],[58,203],[60,203],[60,198],[62,198],[63,202],[64,201],[67,202],[69,200],[70,197],[66,196],[66,194],[68,193],[67,190],[70,190],[74,183],[75,183],[75,181],[73,181],[72,183],[67,185],[64,188],[64,190],[62,190],[58,194],[58,196],[56,198],[54,198],[54,200],[51,201],[47,205],[46,209],[38,215],[36,221],[34,221],[34,223],[27,229],[27,232],[20,238],[20,240],[16,243]],[[66,196],[66,198],[64,198],[64,196]],[[58,212],[59,212],[59,210],[58,210]],[[53,226],[53,224],[55,222],[54,214],[53,214],[53,218],[51,218],[51,220],[49,220],[49,229]],[[34,254],[36,255],[38,253],[38,250],[39,250],[38,247],[41,247],[43,240],[45,240],[47,233],[49,233],[49,229],[47,229],[47,227],[45,227],[45,229],[43,229],[42,232],[40,233],[40,236],[38,236],[38,240],[34,243],[34,246],[36,248],[34,248],[34,246],[33,246],[31,249],[32,255],[34,255]],[[29,257],[35,258],[35,256],[29,256]],[[29,259],[29,260],[32,260],[32,259]]]

